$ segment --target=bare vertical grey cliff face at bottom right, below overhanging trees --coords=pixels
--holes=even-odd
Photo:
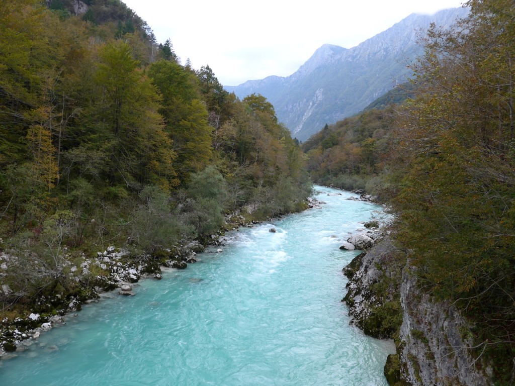
[[[488,364],[481,360],[474,363],[478,354],[470,354],[473,343],[467,336],[469,326],[456,307],[432,300],[416,284],[413,272],[406,268],[402,275],[404,313],[398,348],[404,364],[403,378],[417,386],[493,384]]]

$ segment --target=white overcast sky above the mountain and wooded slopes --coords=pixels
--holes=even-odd
[[[224,85],[288,76],[322,44],[351,48],[411,13],[465,0],[122,0],[170,38],[182,63],[209,64]]]

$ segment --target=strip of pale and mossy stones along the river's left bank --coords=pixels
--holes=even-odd
[[[319,208],[321,204],[323,202],[308,198],[304,207]],[[272,221],[271,218],[264,220]],[[204,245],[215,247],[211,252],[222,252],[226,231],[242,226],[253,227],[261,222],[262,219],[254,219],[248,211],[243,214],[237,211],[226,216],[223,229],[204,238],[202,243],[198,240],[184,242],[183,245],[174,245],[153,254],[133,254],[129,250],[110,246],[103,252],[97,252],[94,257],[81,253],[77,259],[64,249],[59,256],[62,266],[59,274],[64,279],[66,272],[65,279],[73,283],[74,289],[65,295],[56,291],[52,296],[39,296],[34,304],[27,307],[29,311],[24,317],[4,317],[0,321],[0,359],[8,359],[16,351],[25,350],[42,332],[65,323],[65,315],[73,315],[73,312],[81,309],[82,304],[97,302],[101,293],[117,290],[120,295],[135,295],[132,284],[141,278],[159,280],[163,267],[187,268],[188,264],[196,262],[197,253],[204,252]],[[19,256],[0,253],[0,278],[8,270],[20,268],[23,260]],[[0,286],[0,296],[12,293],[9,285]]]

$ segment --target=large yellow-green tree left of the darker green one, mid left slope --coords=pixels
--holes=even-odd
[[[97,97],[84,124],[95,133],[92,141],[110,148],[105,160],[110,183],[130,189],[149,182],[163,188],[176,185],[175,153],[163,132],[160,98],[126,43],[102,47],[94,79]]]

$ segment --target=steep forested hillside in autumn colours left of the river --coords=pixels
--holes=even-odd
[[[173,257],[231,213],[293,212],[310,191],[271,104],[181,65],[123,3],[0,3],[0,320],[65,309],[34,302],[108,276],[73,273],[108,245]]]

